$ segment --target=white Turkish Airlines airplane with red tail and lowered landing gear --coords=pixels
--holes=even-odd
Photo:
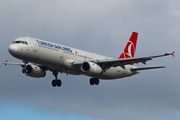
[[[8,48],[9,53],[23,63],[4,62],[5,65],[20,65],[26,76],[41,78],[46,71],[51,71],[55,79],[53,87],[60,87],[62,82],[58,73],[72,75],[86,75],[91,77],[90,85],[99,85],[100,80],[112,80],[138,74],[141,70],[165,68],[164,66],[137,68],[133,64],[143,63],[153,58],[172,55],[165,53],[155,56],[134,57],[138,33],[132,35],[122,54],[117,58],[110,58],[96,53],[86,52],[72,47],[32,38],[19,37]]]

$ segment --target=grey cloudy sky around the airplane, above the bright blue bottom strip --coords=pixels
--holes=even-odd
[[[0,0],[0,62],[21,62],[8,53],[17,37],[31,36],[117,58],[132,31],[139,33],[135,56],[176,51],[175,58],[154,59],[147,66],[166,69],[100,81],[59,74],[26,77],[19,66],[0,68],[0,104],[30,107],[45,114],[108,119],[176,119],[180,115],[178,0]],[[144,65],[136,65],[142,67]]]

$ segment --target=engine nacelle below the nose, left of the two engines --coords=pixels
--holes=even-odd
[[[45,77],[46,72],[36,65],[27,65],[25,74],[30,77],[40,78]]]

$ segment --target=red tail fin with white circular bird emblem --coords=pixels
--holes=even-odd
[[[121,58],[131,58],[134,57],[135,51],[136,51],[136,43],[137,43],[137,32],[132,32],[132,35],[124,48],[124,51],[120,55],[119,59]]]

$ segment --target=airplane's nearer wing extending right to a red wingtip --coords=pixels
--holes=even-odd
[[[133,63],[143,63],[146,64],[147,61],[152,60],[152,58],[163,57],[172,55],[174,57],[174,53],[165,53],[162,55],[155,55],[155,56],[145,56],[145,57],[133,57],[133,58],[123,58],[123,59],[110,59],[110,60],[95,60],[91,61],[94,62],[102,67],[102,69],[109,69],[110,67],[117,67],[121,66],[125,68],[124,65],[133,64]],[[82,62],[75,61],[73,63],[74,66],[80,66]]]

